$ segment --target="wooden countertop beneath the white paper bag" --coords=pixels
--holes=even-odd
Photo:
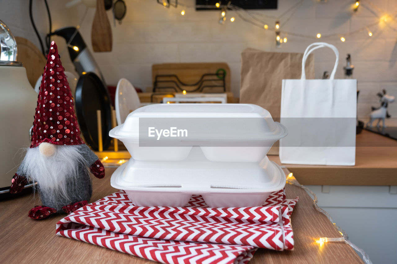
[[[355,166],[283,165],[303,185],[397,185],[397,140],[363,130],[356,146]]]

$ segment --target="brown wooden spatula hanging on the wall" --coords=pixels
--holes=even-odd
[[[106,15],[104,0],[96,0],[91,42],[94,52],[112,51],[112,29]]]

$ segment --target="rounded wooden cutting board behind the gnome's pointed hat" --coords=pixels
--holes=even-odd
[[[17,61],[23,64],[26,69],[27,79],[30,85],[35,88],[36,81],[42,75],[47,59],[35,44],[26,38],[15,37],[15,40],[18,49]]]

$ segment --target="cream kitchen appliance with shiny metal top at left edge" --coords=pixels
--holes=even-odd
[[[17,62],[17,44],[0,21],[0,193],[8,193],[19,163],[30,145],[29,129],[37,104],[37,93],[29,84],[26,69]],[[44,65],[37,65],[44,67]]]

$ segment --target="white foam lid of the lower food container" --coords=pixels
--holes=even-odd
[[[130,159],[114,172],[110,183],[139,192],[266,193],[282,189],[285,174],[268,157],[260,163]]]

